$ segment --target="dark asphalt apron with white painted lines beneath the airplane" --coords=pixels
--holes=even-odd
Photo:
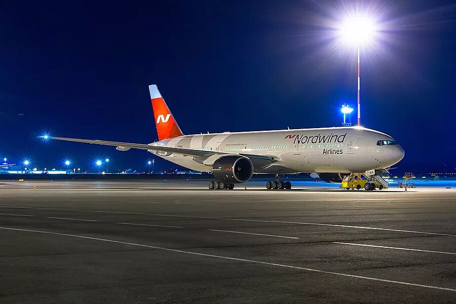
[[[2,304],[456,302],[454,188],[1,181],[0,213]]]

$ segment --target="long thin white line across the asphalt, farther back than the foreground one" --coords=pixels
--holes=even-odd
[[[389,229],[389,228],[377,228],[377,227],[365,227],[365,226],[353,226],[353,225],[341,225],[341,224],[326,224],[326,223],[310,223],[310,222],[296,222],[296,221],[281,221],[281,220],[261,220],[261,219],[246,219],[246,218],[224,218],[224,217],[212,217],[212,216],[194,216],[194,215],[176,215],[176,214],[157,214],[157,213],[139,213],[139,212],[121,212],[121,211],[104,211],[104,210],[84,210],[84,209],[59,209],[59,208],[32,208],[32,207],[12,207],[12,206],[0,206],[1,208],[23,208],[23,209],[37,209],[37,210],[61,210],[61,211],[83,211],[83,212],[98,212],[98,213],[116,213],[116,214],[137,214],[137,215],[150,215],[150,216],[170,216],[170,217],[185,217],[185,218],[206,218],[206,219],[219,219],[219,220],[234,220],[234,221],[251,221],[251,222],[266,222],[266,223],[282,223],[282,224],[300,224],[300,225],[319,225],[319,226],[332,226],[332,227],[345,227],[345,228],[356,228],[366,230],[380,230],[380,231],[395,231],[395,232],[406,232],[415,234],[435,235],[435,236],[447,236],[456,237],[453,234],[435,233],[435,232],[423,232],[413,230],[401,230],[401,229]]]

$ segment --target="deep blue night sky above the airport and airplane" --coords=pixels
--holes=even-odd
[[[185,134],[340,126],[341,104],[356,106],[356,50],[336,46],[331,27],[356,2],[334,3],[3,2],[0,156],[48,168],[68,158],[82,170],[109,157],[110,170],[147,170],[146,151],[35,137],[153,142],[150,84]],[[454,172],[456,5],[359,9],[384,26],[361,50],[362,125],[396,139],[399,166]]]

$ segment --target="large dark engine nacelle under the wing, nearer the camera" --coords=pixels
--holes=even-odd
[[[240,183],[248,181],[253,174],[252,162],[243,156],[227,155],[212,165],[212,175],[219,181]]]

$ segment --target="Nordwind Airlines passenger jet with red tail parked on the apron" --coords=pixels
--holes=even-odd
[[[285,174],[317,173],[341,182],[351,173],[371,172],[366,190],[385,168],[398,163],[404,150],[389,135],[363,127],[332,127],[184,135],[160,94],[149,86],[158,141],[148,144],[49,136],[49,139],[144,149],[191,170],[211,172],[209,189],[233,189],[254,173],[275,174],[268,189],[290,189]],[[387,186],[388,184],[386,184]]]

